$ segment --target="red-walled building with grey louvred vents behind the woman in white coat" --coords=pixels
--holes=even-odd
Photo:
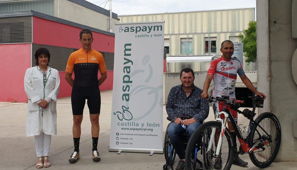
[[[51,54],[49,66],[59,71],[61,84],[58,97],[70,96],[72,88],[64,79],[65,68],[69,55],[81,48],[79,32],[83,28],[88,28],[93,32],[94,43],[92,48],[102,53],[107,67],[108,78],[100,86],[100,90],[112,89],[115,34],[108,32],[109,23],[102,24],[99,27],[101,29],[94,28],[95,25],[93,25],[94,27],[88,25],[91,23],[99,23],[100,25],[100,20],[106,21],[109,18],[107,14],[93,10],[93,12],[97,12],[97,15],[90,15],[89,17],[85,15],[86,18],[91,18],[93,22],[88,22],[87,19],[83,20],[78,16],[80,13],[88,14],[90,8],[84,7],[78,2],[83,2],[84,5],[89,2],[77,0],[75,1],[76,4],[68,5],[69,10],[73,7],[71,8],[73,10],[72,20],[80,21],[78,23],[54,16],[59,7],[61,12],[58,14],[63,16],[61,6],[55,6],[56,3],[61,5],[63,3],[74,3],[74,1],[17,0],[5,2],[4,5],[0,1],[0,79],[3,80],[1,81],[0,101],[27,101],[24,92],[24,75],[26,69],[35,66],[34,54],[39,47],[48,48]],[[31,10],[35,7],[34,5],[37,6],[34,9],[39,9],[41,12]],[[76,10],[75,7],[78,5],[84,11]],[[80,11],[80,13],[75,11]],[[66,13],[64,11],[65,15],[67,15]],[[68,15],[71,16],[71,14]],[[96,18],[98,19],[96,20]],[[118,18],[115,20],[119,21]],[[100,76],[99,72],[98,76]]]

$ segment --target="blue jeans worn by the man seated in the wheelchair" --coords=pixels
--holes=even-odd
[[[178,155],[179,159],[184,159],[186,155],[186,148],[184,148],[183,144],[181,143],[181,137],[187,132],[188,140],[194,133],[194,131],[201,125],[200,122],[191,123],[184,129],[181,124],[176,124],[171,122],[168,127],[168,135],[171,144],[173,145],[176,154]]]

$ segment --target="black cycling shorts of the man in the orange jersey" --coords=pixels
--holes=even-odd
[[[71,106],[73,115],[82,115],[83,108],[87,104],[90,114],[100,113],[101,96],[98,86],[73,87],[71,92]]]

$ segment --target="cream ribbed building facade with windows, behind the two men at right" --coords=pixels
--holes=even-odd
[[[237,36],[247,29],[249,21],[255,21],[255,8],[224,9],[192,12],[173,12],[143,15],[119,15],[120,23],[165,20],[164,47],[167,56],[220,56],[221,42],[238,42]],[[169,63],[170,72],[191,67],[194,71],[208,69],[210,62]],[[244,69],[254,70],[255,64]],[[167,68],[168,71],[168,68]]]

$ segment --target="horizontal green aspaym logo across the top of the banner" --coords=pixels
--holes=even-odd
[[[120,27],[119,32],[138,32],[141,33],[150,33],[151,31],[162,31],[162,26],[131,26],[131,27]]]

